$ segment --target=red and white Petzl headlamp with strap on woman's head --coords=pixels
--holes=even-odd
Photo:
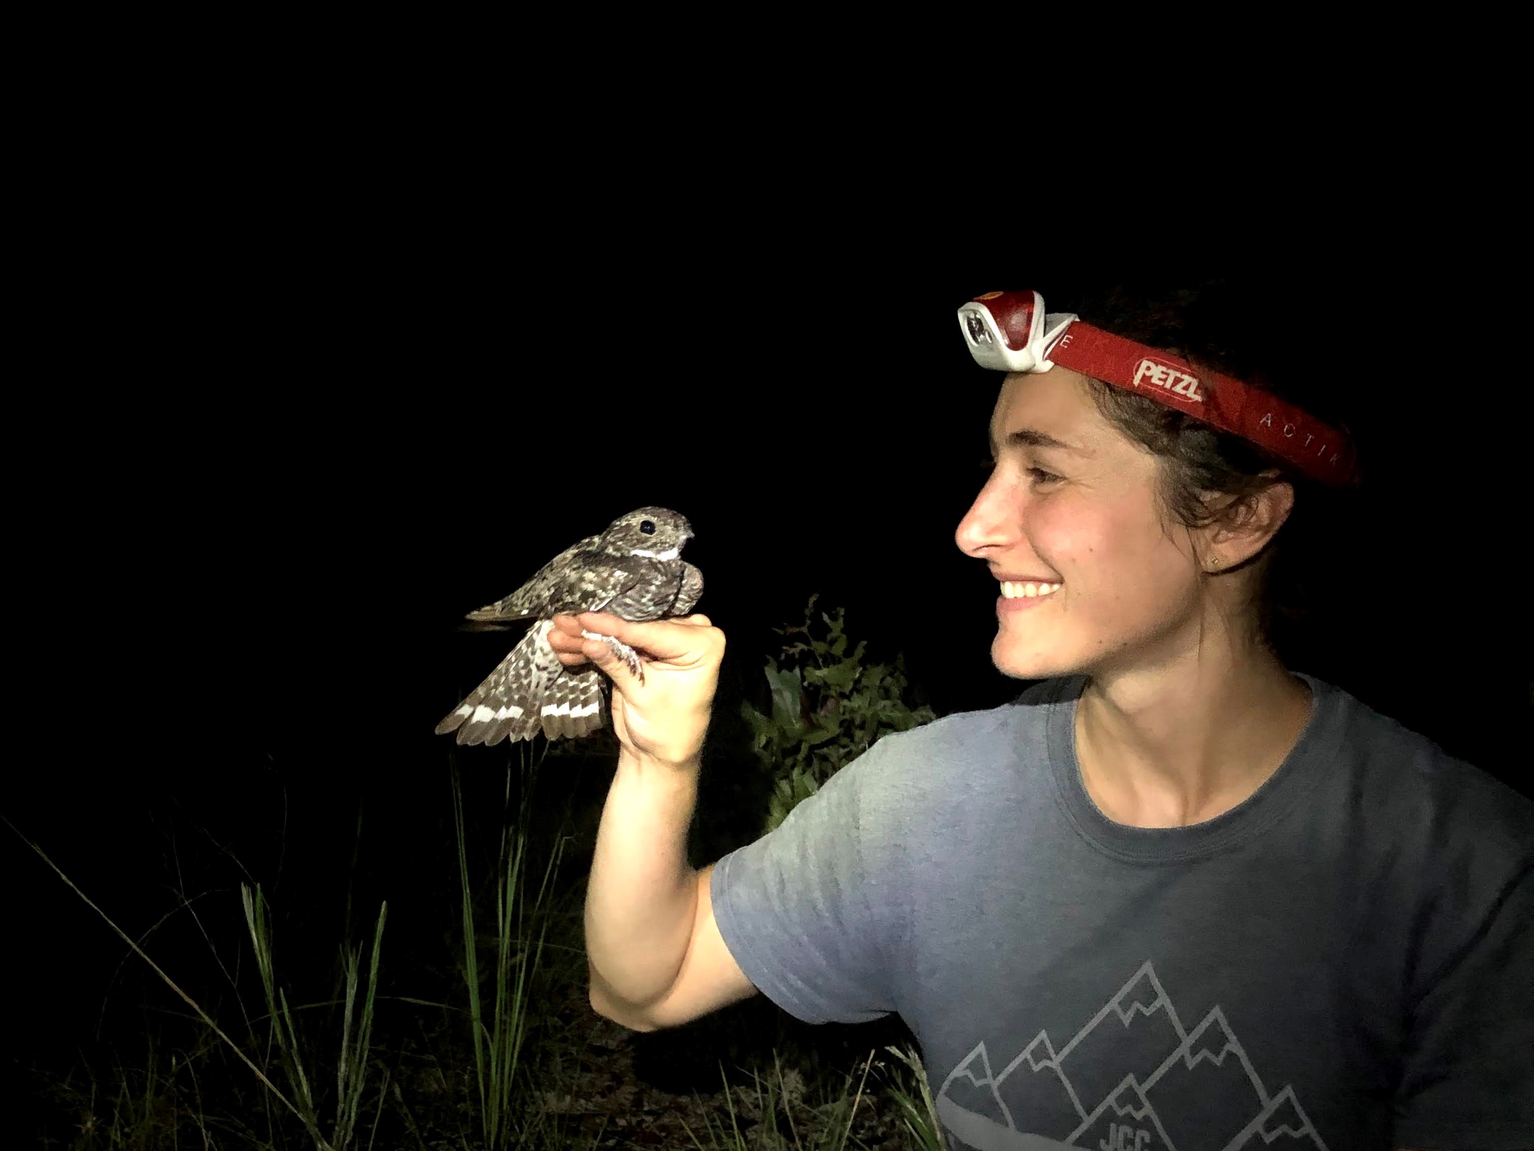
[[[1358,482],[1348,436],[1233,376],[1195,368],[1161,348],[1115,336],[1075,315],[1045,313],[1037,292],[986,292],[959,308],[974,362],[994,371],[1049,371],[1055,364],[1229,431],[1336,486]]]

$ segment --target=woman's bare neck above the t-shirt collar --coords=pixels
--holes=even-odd
[[[1081,783],[1115,823],[1204,823],[1250,798],[1309,718],[1309,684],[1266,649],[1092,675],[1075,707]]]

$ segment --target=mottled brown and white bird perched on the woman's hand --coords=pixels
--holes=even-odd
[[[549,646],[557,614],[604,611],[624,620],[686,615],[703,595],[703,572],[681,559],[692,525],[670,508],[638,508],[600,536],[588,536],[517,591],[471,611],[476,623],[532,620],[511,654],[442,723],[437,735],[457,732],[460,744],[502,740],[578,738],[601,727],[607,680],[592,665],[566,668]],[[611,635],[603,640],[643,683],[640,657]]]

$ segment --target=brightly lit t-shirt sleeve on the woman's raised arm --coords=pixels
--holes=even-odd
[[[762,994],[808,1024],[862,1024],[896,1010],[890,956],[905,899],[890,784],[899,743],[887,735],[713,869],[713,916],[730,955]]]

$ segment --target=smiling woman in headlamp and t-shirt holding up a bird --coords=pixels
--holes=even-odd
[[[997,668],[1042,681],[1017,703],[882,740],[693,873],[723,635],[557,622],[623,746],[594,1007],[899,1011],[953,1146],[1534,1143],[1531,804],[1275,654],[1345,430],[1279,397],[1287,344],[1229,292],[1081,312],[960,310],[1008,370],[957,542],[999,582]]]

